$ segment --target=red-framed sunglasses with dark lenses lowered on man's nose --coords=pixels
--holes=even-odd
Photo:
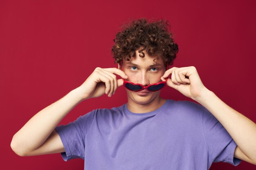
[[[166,70],[168,70],[168,64],[166,64]],[[121,61],[121,71],[123,71],[122,61]],[[123,79],[124,80],[124,79]],[[164,86],[166,86],[167,78],[165,79],[165,82],[159,82],[154,84],[149,84],[148,86],[143,86],[139,83],[132,83],[129,81],[124,80],[124,87],[127,88],[129,91],[142,91],[143,89],[147,89],[148,91],[159,91]]]

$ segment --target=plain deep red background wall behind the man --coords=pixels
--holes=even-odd
[[[255,7],[254,0],[1,0],[1,169],[83,169],[82,159],[65,162],[60,154],[19,157],[10,148],[11,139],[33,115],[80,86],[94,68],[117,67],[111,47],[129,18],[169,20],[180,49],[173,66],[195,66],[209,90],[256,122]],[[192,101],[170,87],[162,96]],[[111,98],[82,102],[61,124],[126,101],[124,87],[118,88]],[[256,166],[245,161],[237,167],[211,166],[227,168]]]

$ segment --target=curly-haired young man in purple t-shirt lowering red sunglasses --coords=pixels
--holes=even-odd
[[[209,91],[194,66],[167,69],[178,47],[164,21],[135,20],[114,41],[119,68],[96,68],[32,117],[13,136],[16,154],[61,152],[65,161],[84,159],[86,170],[206,170],[213,162],[237,166],[241,160],[256,165],[256,124]],[[165,84],[201,105],[161,98]],[[122,85],[127,104],[56,127],[80,102],[111,97]]]

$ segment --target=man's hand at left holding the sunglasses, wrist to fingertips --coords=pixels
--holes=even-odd
[[[117,79],[114,74],[120,75],[123,79],[128,78],[126,73],[118,68],[95,68],[85,82],[78,87],[82,98],[99,97],[104,93],[111,97],[117,88],[123,85],[123,79]]]

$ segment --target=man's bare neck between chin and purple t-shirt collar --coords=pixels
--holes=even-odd
[[[132,113],[148,113],[160,108],[165,102],[166,99],[161,97],[156,97],[147,104],[138,104],[132,99],[128,99],[127,107]]]

